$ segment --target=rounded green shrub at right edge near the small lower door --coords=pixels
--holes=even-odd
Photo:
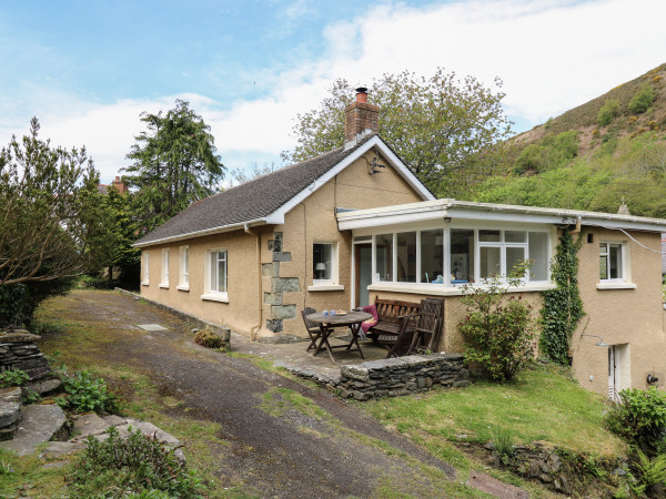
[[[666,393],[655,387],[630,388],[619,393],[622,403],[614,404],[606,424],[614,434],[645,450],[664,446],[666,431]]]

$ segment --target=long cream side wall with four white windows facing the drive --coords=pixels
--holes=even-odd
[[[259,233],[263,246],[268,246],[266,235],[272,236],[270,227]],[[263,235],[262,235],[263,234]],[[176,289],[180,278],[180,246],[189,246],[190,289]],[[170,248],[169,288],[160,287],[162,248]],[[204,256],[210,249],[228,251],[228,289],[229,303],[205,301],[204,294]],[[144,249],[145,252],[147,249]],[[150,252],[149,285],[141,286],[141,296],[154,299],[188,314],[223,324],[233,330],[250,334],[259,322],[260,307],[260,271],[256,256],[256,237],[243,231],[179,241],[173,244],[155,245]],[[143,265],[142,258],[142,265]],[[142,274],[143,275],[143,274]]]

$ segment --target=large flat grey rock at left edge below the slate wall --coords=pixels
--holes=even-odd
[[[1,442],[0,446],[14,450],[19,456],[27,456],[40,444],[49,441],[64,421],[64,413],[56,405],[27,406],[21,413],[21,424],[14,439]]]

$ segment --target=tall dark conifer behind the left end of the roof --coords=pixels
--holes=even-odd
[[[142,113],[148,131],[135,136],[124,179],[137,187],[135,213],[151,231],[191,203],[214,193],[224,177],[210,126],[185,101],[167,114]]]

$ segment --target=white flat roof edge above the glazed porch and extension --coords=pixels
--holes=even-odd
[[[539,206],[475,203],[453,198],[424,201],[370,210],[339,212],[340,230],[381,227],[427,220],[478,220],[495,222],[532,222],[542,224],[577,224],[612,230],[665,232],[666,220],[610,213],[561,210]]]

